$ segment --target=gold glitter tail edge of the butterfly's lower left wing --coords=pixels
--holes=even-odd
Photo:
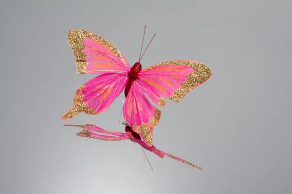
[[[76,116],[77,114],[84,112],[87,114],[97,114],[96,112],[94,112],[94,109],[91,108],[89,109],[87,107],[87,104],[85,104],[83,102],[83,97],[84,95],[82,94],[82,90],[85,87],[85,84],[83,84],[81,87],[79,87],[75,93],[75,97],[73,98],[73,107],[67,111],[66,113],[63,114],[62,119],[63,120],[69,120],[71,119],[73,116]]]

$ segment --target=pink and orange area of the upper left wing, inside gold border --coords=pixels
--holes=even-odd
[[[128,72],[129,64],[126,66],[123,62],[114,55],[108,47],[105,47],[100,42],[92,38],[84,38],[84,53],[86,54],[85,60],[87,62],[86,70],[88,73],[107,73],[107,72]],[[123,57],[123,55],[122,55]]]

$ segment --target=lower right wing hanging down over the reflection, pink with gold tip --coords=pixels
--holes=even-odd
[[[126,98],[123,115],[133,131],[142,135],[148,146],[152,146],[152,130],[158,125],[161,111],[155,108],[134,81]]]

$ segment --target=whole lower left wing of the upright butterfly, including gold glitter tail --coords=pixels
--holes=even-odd
[[[98,114],[107,110],[121,94],[128,81],[127,73],[101,74],[79,87],[73,98],[73,107],[63,114],[68,120],[77,114]]]

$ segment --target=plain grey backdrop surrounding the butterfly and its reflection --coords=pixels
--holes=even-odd
[[[0,3],[1,194],[291,194],[291,27],[287,0],[92,0]],[[289,13],[290,12],[290,13]],[[168,100],[154,145],[199,171],[132,142],[75,136],[63,124],[119,125],[121,95],[104,113],[64,122],[77,87],[67,31],[84,29],[133,65],[198,60],[213,77]],[[290,120],[289,120],[290,119]],[[123,121],[123,120],[122,120]]]

